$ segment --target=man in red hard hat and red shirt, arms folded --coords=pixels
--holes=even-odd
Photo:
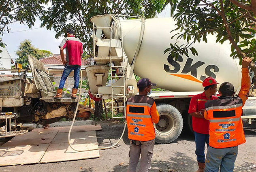
[[[205,143],[209,146],[209,121],[203,116],[205,103],[209,100],[218,99],[214,96],[217,92],[218,82],[208,77],[203,81],[204,92],[195,95],[190,100],[188,113],[192,116],[192,127],[195,134],[196,142],[196,160],[198,170],[196,172],[204,172],[205,170]]]

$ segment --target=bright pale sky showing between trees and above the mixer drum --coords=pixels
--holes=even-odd
[[[170,17],[170,11],[171,6],[168,5],[157,17]],[[19,22],[9,24],[11,31],[10,33],[5,33],[2,36],[2,40],[6,44],[6,49],[13,59],[17,58],[15,51],[17,51],[20,42],[25,39],[31,40],[32,45],[38,49],[48,50],[53,54],[60,53],[58,46],[64,37],[56,39],[53,30],[40,28],[40,25],[41,22],[37,20],[30,30],[26,24],[20,24]]]

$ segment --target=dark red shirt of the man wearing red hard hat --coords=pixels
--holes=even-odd
[[[211,96],[211,100],[216,100],[218,97]],[[199,112],[199,110],[205,108],[205,103],[209,100],[205,96],[205,92],[195,95],[190,100],[188,113]],[[193,131],[201,134],[209,134],[209,120],[204,118],[192,117]]]

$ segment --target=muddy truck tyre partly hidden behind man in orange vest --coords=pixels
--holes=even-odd
[[[183,128],[183,119],[179,110],[170,104],[157,104],[159,122],[154,124],[156,143],[165,144],[176,140]]]

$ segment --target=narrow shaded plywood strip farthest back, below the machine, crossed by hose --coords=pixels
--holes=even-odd
[[[45,130],[57,130],[58,133],[68,133],[70,129],[70,126],[68,127],[50,127],[48,129],[43,129],[43,128],[36,128],[32,130],[31,132],[41,132]],[[76,125],[73,126],[71,132],[86,132],[86,131],[98,131],[102,130],[100,125]]]

